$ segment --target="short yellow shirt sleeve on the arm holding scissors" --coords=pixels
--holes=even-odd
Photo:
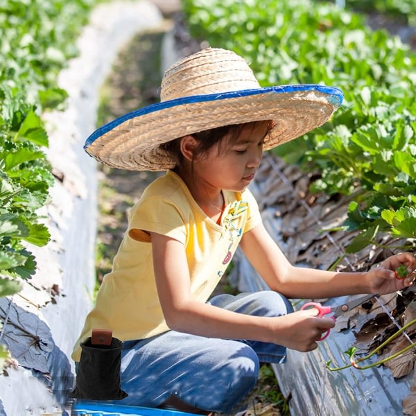
[[[148,198],[138,202],[130,212],[128,234],[136,241],[150,242],[149,232],[186,241],[183,214],[171,200]]]

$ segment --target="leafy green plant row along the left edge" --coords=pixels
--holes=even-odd
[[[0,2],[0,297],[30,279],[50,233],[38,214],[53,186],[42,114],[64,107],[58,73],[77,54],[76,38],[95,0]],[[1,329],[1,322],[0,322]],[[8,354],[0,345],[0,369]]]

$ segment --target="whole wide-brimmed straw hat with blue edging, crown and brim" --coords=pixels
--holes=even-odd
[[[331,118],[343,101],[338,88],[284,85],[261,88],[248,64],[224,49],[208,48],[164,74],[161,102],[98,128],[85,150],[115,168],[164,171],[174,167],[161,144],[185,135],[248,121],[273,120],[263,146],[286,143]]]

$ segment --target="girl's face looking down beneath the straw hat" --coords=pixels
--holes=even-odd
[[[224,137],[220,144],[194,159],[195,177],[209,188],[243,191],[259,167],[268,130],[267,123],[257,123],[243,128],[235,141]]]

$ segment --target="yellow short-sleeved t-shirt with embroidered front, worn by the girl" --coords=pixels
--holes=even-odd
[[[92,329],[112,329],[120,340],[149,338],[168,327],[157,295],[152,248],[147,232],[157,232],[183,243],[195,300],[207,302],[239,245],[241,236],[261,223],[252,193],[223,191],[225,210],[220,225],[207,217],[181,178],[168,171],[144,191],[132,207],[127,232],[105,275],[96,305],[87,315],[73,349]]]

